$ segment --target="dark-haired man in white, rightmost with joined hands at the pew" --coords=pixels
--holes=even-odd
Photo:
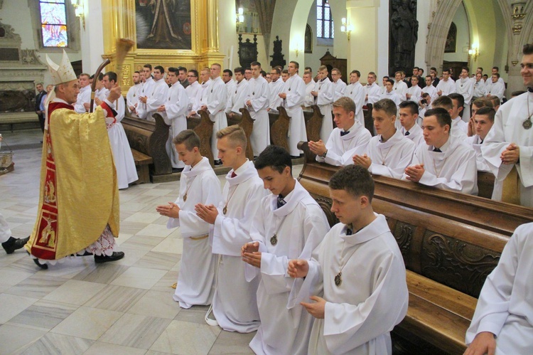
[[[438,189],[478,194],[475,152],[463,140],[450,135],[450,114],[442,107],[426,111],[426,146],[416,148],[412,165],[402,179]]]

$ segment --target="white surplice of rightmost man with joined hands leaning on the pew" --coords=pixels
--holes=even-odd
[[[416,148],[411,165],[424,164],[424,175],[419,183],[463,194],[478,194],[478,169],[475,167],[475,152],[465,141],[450,137],[434,152],[431,145],[421,144]],[[402,179],[407,180],[404,174]]]

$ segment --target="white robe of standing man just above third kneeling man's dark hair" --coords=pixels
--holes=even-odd
[[[291,117],[289,123],[289,153],[298,157],[301,150],[298,149],[298,142],[307,142],[306,121],[303,118],[301,105],[306,99],[306,83],[300,75],[292,75],[284,85],[284,92],[287,97],[283,100],[287,115]]]

